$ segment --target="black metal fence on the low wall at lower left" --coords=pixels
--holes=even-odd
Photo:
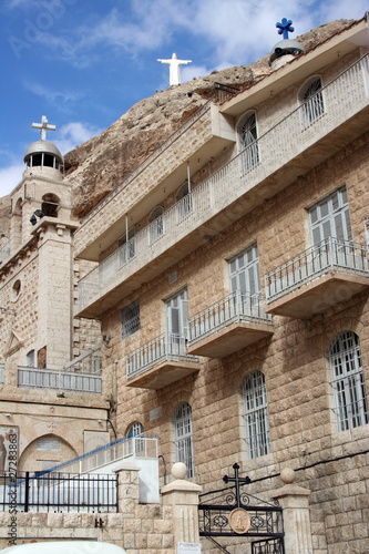
[[[4,473],[0,511],[117,512],[117,478],[102,474]]]

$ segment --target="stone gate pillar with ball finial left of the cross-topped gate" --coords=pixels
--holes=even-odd
[[[161,490],[163,505],[173,507],[175,545],[180,542],[199,543],[197,506],[202,488],[185,481],[186,473],[187,468],[184,463],[175,463],[172,470],[175,481]]]

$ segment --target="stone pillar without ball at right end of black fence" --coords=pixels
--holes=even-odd
[[[134,517],[139,504],[139,471],[132,462],[122,462],[116,469],[117,474],[117,511],[125,517]]]

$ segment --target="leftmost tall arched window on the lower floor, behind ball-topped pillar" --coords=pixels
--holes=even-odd
[[[187,465],[187,478],[195,474],[194,445],[192,434],[192,409],[187,402],[182,402],[175,410],[175,461]]]

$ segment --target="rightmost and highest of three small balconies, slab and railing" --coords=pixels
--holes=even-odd
[[[305,319],[368,286],[368,249],[327,238],[265,275],[266,311]]]

